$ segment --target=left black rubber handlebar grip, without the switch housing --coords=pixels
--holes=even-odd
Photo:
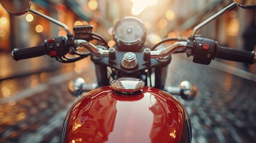
[[[38,45],[25,49],[13,49],[13,52],[11,52],[11,57],[18,61],[26,58],[39,57],[45,54],[47,54],[47,52],[44,45]]]

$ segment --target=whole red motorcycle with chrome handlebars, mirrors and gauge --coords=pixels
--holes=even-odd
[[[68,111],[63,122],[62,142],[191,142],[190,117],[173,95],[193,100],[197,88],[188,81],[179,87],[165,87],[171,54],[185,53],[193,62],[210,64],[215,58],[256,63],[254,51],[243,51],[218,45],[217,41],[196,32],[234,5],[251,9],[256,1],[234,0],[223,10],[196,26],[186,38],[166,38],[145,48],[147,29],[136,17],[124,17],[115,24],[113,47],[93,26],[68,26],[31,8],[31,0],[0,0],[9,13],[39,15],[61,27],[67,35],[45,40],[43,45],[14,49],[11,57],[18,61],[47,54],[61,63],[72,63],[90,55],[95,64],[97,84],[86,84],[78,78],[69,90],[80,99]],[[98,45],[90,41],[96,40]],[[170,46],[162,43],[176,41]],[[87,51],[84,51],[84,48]],[[153,74],[155,76],[153,76]]]

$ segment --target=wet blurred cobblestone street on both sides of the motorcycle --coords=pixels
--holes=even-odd
[[[199,89],[194,101],[175,96],[190,114],[192,142],[256,142],[255,74],[248,73],[248,80],[217,61],[203,66],[184,56],[172,57],[166,85],[189,80]],[[69,80],[94,80],[89,58],[80,64],[82,69],[71,64],[50,73],[2,80],[0,142],[60,142],[63,119],[76,101],[68,92]]]

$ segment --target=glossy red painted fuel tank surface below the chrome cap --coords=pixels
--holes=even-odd
[[[120,95],[109,86],[88,92],[69,110],[64,142],[187,141],[184,107],[167,92],[144,87]]]

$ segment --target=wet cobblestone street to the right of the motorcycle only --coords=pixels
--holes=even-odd
[[[193,142],[256,142],[256,82],[212,68],[221,64],[214,61],[211,66],[179,62],[182,66],[170,67],[170,83],[190,80],[199,88],[194,101],[180,100],[191,117]]]

